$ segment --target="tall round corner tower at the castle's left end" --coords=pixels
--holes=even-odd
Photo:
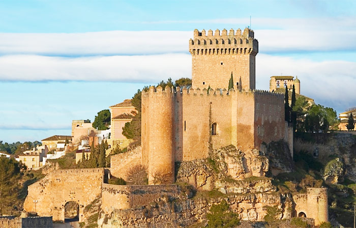
[[[174,182],[173,97],[168,86],[142,92],[142,163],[149,184]]]

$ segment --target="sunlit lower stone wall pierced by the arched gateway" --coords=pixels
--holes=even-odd
[[[52,216],[54,221],[76,214],[81,222],[85,206],[101,194],[103,176],[103,168],[55,170],[28,186],[23,208],[39,216]]]

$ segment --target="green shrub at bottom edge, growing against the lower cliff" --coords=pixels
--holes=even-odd
[[[225,200],[213,205],[207,213],[207,227],[235,227],[240,224],[239,215],[229,209]]]

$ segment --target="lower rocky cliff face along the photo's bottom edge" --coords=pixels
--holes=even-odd
[[[290,194],[245,194],[213,199],[197,198],[184,201],[158,199],[150,205],[127,210],[115,210],[110,215],[101,214],[100,227],[187,227],[205,219],[213,204],[222,200],[230,205],[242,220],[262,221],[266,215],[264,206],[278,207],[280,218],[290,218],[292,197]]]

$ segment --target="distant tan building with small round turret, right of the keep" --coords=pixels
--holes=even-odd
[[[301,81],[293,76],[272,76],[270,80],[270,92],[284,93],[285,87],[292,90],[294,85],[295,93],[301,94]]]

